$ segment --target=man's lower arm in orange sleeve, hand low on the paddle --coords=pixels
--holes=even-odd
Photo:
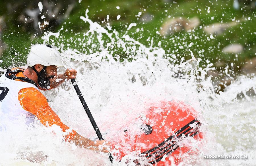
[[[51,127],[53,124],[61,127],[62,131],[67,131],[69,127],[61,122],[58,115],[51,109],[45,96],[35,88],[23,88],[19,91],[18,100],[24,110],[34,114],[40,122],[46,127]],[[91,150],[108,152],[106,147],[103,147],[106,143],[102,141],[92,141],[88,138],[84,138],[76,131],[72,130],[65,136],[66,140],[73,142],[80,147],[88,148]],[[100,146],[100,147],[99,147]]]

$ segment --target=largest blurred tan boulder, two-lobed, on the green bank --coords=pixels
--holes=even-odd
[[[160,28],[160,34],[162,36],[167,36],[175,32],[179,32],[181,30],[191,30],[193,28],[198,27],[200,24],[200,20],[197,17],[191,18],[191,20],[187,20],[186,18],[172,18],[166,21]]]

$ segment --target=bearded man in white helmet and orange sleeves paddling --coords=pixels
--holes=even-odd
[[[0,77],[1,118],[11,112],[13,117],[25,116],[26,124],[29,125],[37,117],[47,127],[55,124],[59,125],[63,132],[69,131],[69,134],[65,135],[65,140],[73,141],[77,146],[86,148],[90,146],[92,150],[108,152],[106,146],[103,149],[99,148],[100,145],[106,144],[104,140],[94,142],[63,124],[40,92],[40,90],[56,88],[65,80],[75,78],[77,71],[67,69],[64,74],[57,75],[57,67],[63,66],[63,61],[59,52],[50,45],[32,46],[27,65],[26,70],[8,69]]]

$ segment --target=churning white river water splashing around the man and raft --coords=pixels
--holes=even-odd
[[[80,19],[90,30],[83,34],[84,39],[73,41],[86,47],[97,39],[98,51],[64,49],[63,28],[45,33],[42,39],[44,44],[55,43],[64,57],[65,68],[78,71],[77,84],[105,140],[115,141],[128,128],[137,130],[137,117],[145,114],[150,106],[176,100],[199,113],[204,135],[203,141],[189,145],[197,153],[182,154],[180,165],[255,165],[255,75],[239,75],[224,92],[217,94],[211,77],[207,76],[209,70],[215,69],[211,63],[206,68],[199,67],[202,59],[195,57],[193,50],[190,60],[182,58],[179,64],[174,64],[176,55],[165,52],[161,45],[154,46],[153,38],[146,46],[127,35],[136,26],[134,23],[119,35],[110,25],[103,27],[90,20],[88,9]],[[133,60],[120,62],[120,56],[114,53],[116,49],[132,53]],[[64,68],[58,69],[59,73],[63,71]],[[44,95],[63,123],[86,138],[98,139],[70,81]],[[23,120],[17,119],[15,123],[1,116],[1,165],[136,165],[135,159],[141,165],[151,165],[135,153],[112,164],[104,153],[62,141],[63,132],[58,126],[47,128],[37,121],[28,127],[22,125]],[[2,124],[8,130],[2,129]],[[248,158],[203,157],[230,154]]]

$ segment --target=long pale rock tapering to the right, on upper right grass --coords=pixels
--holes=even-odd
[[[237,22],[230,22],[230,23],[226,23],[226,24],[221,24],[221,23],[214,23],[214,24],[210,24],[207,27],[204,28],[204,31],[206,33],[210,34],[214,34],[214,35],[220,35],[222,34],[224,31],[226,31],[227,28],[230,28],[232,26],[237,25]]]

